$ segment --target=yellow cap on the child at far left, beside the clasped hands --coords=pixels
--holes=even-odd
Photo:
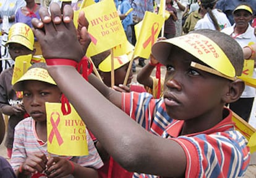
[[[9,30],[8,41],[6,45],[15,42],[19,43],[31,51],[34,48],[34,34],[30,26],[25,23],[14,23]]]

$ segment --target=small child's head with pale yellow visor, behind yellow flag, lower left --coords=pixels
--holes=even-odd
[[[49,76],[45,63],[34,63],[13,87],[23,92],[25,110],[37,122],[46,121],[45,102],[61,101],[61,91]]]

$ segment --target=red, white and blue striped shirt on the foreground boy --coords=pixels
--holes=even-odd
[[[149,94],[123,94],[123,109],[132,118],[153,134],[175,140],[186,153],[185,177],[243,177],[249,164],[250,155],[247,140],[234,130],[232,112],[207,131],[179,136],[184,121],[169,119],[163,99],[154,100]],[[164,122],[161,122],[164,121]],[[171,123],[163,127],[166,122]],[[161,125],[162,123],[163,126]],[[153,127],[153,129],[151,128]],[[163,131],[163,130],[162,130]],[[134,174],[134,177],[157,177]]]

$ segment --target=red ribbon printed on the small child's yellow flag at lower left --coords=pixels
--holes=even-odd
[[[54,122],[53,115],[58,115],[58,118],[57,118],[56,122]],[[61,116],[59,115],[59,113],[53,112],[53,113],[51,113],[50,121],[51,121],[51,126],[53,126],[53,129],[51,129],[48,140],[49,140],[50,143],[52,143],[53,142],[53,137],[55,135],[59,146],[61,146],[63,144],[63,139],[62,139],[61,134],[59,133],[59,130],[58,130],[58,125],[59,125],[59,122],[61,121]]]

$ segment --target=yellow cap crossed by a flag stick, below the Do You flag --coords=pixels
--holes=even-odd
[[[130,62],[130,60],[132,59],[131,54],[132,54],[132,52],[130,52],[129,55],[124,54],[124,55],[120,55],[118,57],[114,57],[114,70],[116,70],[117,68],[120,68],[123,65],[125,65],[126,63]],[[99,70],[104,71],[104,72],[111,71],[111,55],[106,57],[106,59],[100,63]]]

